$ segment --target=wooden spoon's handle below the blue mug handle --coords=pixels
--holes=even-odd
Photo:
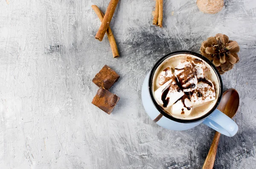
[[[212,140],[212,145],[209,149],[208,155],[204,161],[204,166],[202,169],[212,169],[216,157],[216,153],[218,150],[218,142],[220,140],[221,133],[216,132],[214,138]]]

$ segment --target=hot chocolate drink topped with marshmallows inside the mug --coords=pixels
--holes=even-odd
[[[169,115],[184,120],[207,114],[216,104],[219,90],[211,66],[191,54],[168,57],[153,76],[154,99]]]

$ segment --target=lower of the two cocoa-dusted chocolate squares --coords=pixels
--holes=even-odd
[[[94,96],[92,103],[110,115],[119,99],[115,94],[100,88]]]

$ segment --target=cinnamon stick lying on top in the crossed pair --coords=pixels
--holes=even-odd
[[[117,6],[118,0],[110,0],[110,3],[108,4],[107,11],[105,13],[105,17],[102,20],[102,24],[99,27],[99,30],[95,36],[95,38],[99,41],[102,41],[108,26],[111,22],[111,19],[113,17],[113,14],[115,12],[116,6]]]

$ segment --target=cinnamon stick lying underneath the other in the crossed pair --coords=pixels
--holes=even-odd
[[[102,13],[102,11],[96,5],[92,5],[92,8],[97,14],[97,16],[99,17],[99,20],[102,22],[102,20],[104,19],[104,14]],[[108,40],[111,46],[113,57],[114,58],[119,57],[118,49],[116,46],[116,40],[110,26],[108,26],[107,35],[108,35]]]

